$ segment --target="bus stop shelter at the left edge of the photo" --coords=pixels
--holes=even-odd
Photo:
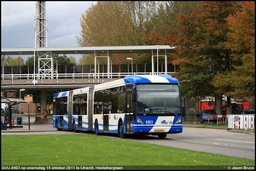
[[[6,130],[8,124],[9,128],[14,127],[12,125],[12,106],[20,103],[26,103],[26,101],[16,98],[1,98],[1,130]],[[19,119],[21,121],[21,118]]]

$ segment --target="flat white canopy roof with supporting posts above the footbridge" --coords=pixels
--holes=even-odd
[[[167,72],[167,54],[173,53],[175,47],[168,45],[150,46],[103,46],[103,47],[55,47],[55,48],[1,48],[1,60],[7,55],[33,55],[38,56],[38,66],[34,59],[32,84],[38,84],[41,79],[53,79],[54,74],[58,73],[58,56],[60,54],[94,54],[94,74],[101,73],[100,61],[107,58],[107,76],[111,78],[113,73],[112,58],[113,54],[148,54],[151,56],[151,72],[159,72],[159,59],[164,58],[165,72]],[[132,60],[129,58],[129,60]],[[55,61],[55,62],[54,62]],[[156,65],[154,64],[156,62]],[[54,64],[56,64],[54,66]],[[156,66],[156,69],[154,67]],[[3,66],[4,67],[4,66]],[[4,68],[3,68],[3,73]],[[58,77],[56,78],[58,79]]]

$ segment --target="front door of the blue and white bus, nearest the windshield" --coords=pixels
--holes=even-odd
[[[126,133],[132,133],[132,121],[133,121],[133,111],[134,105],[131,100],[131,92],[126,93]]]

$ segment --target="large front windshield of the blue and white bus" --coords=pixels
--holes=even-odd
[[[177,116],[180,107],[177,84],[137,85],[137,115]]]

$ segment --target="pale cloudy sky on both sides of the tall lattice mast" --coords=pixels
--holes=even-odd
[[[45,4],[47,47],[79,46],[81,16],[96,1]],[[1,1],[1,48],[35,47],[35,14],[35,1]]]

